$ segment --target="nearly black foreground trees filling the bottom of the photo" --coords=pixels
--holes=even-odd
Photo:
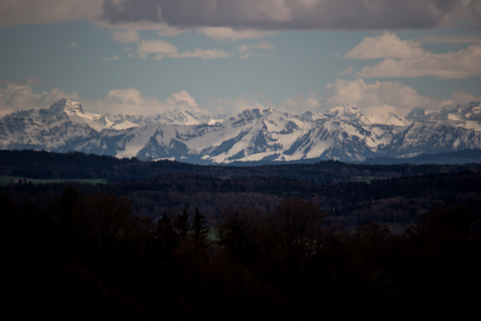
[[[476,312],[480,212],[423,214],[403,234],[345,231],[301,199],[269,213],[132,214],[122,196],[2,191],[6,293],[20,319],[312,320]],[[51,195],[51,194],[50,194]],[[207,227],[211,228],[208,230]]]

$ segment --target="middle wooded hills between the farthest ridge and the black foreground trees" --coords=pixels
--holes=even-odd
[[[15,199],[26,195],[54,198],[72,184],[82,194],[127,196],[135,214],[151,218],[183,207],[198,207],[212,217],[225,208],[254,207],[271,212],[281,199],[291,197],[313,202],[329,215],[329,220],[339,220],[347,227],[370,222],[412,224],[426,210],[458,203],[481,208],[480,182],[481,171],[405,176],[370,183],[315,183],[279,177],[220,179],[176,173],[98,185],[19,182],[0,191],[8,191]]]

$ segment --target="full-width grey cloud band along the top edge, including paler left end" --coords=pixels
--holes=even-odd
[[[160,30],[162,25],[180,30],[422,29],[455,25],[460,19],[471,24],[478,22],[480,3],[480,0],[7,0],[0,1],[0,26],[89,19],[99,26],[120,28],[129,24],[129,28],[137,30]]]

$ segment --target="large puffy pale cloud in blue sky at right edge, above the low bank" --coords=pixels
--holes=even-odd
[[[401,40],[388,32],[366,37],[344,58],[386,58],[378,64],[365,66],[353,77],[424,77],[462,79],[481,75],[481,42],[456,52],[435,54],[417,41]],[[396,59],[397,58],[397,59]]]

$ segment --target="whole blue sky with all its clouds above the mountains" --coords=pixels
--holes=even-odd
[[[0,0],[0,116],[481,101],[481,0]]]

